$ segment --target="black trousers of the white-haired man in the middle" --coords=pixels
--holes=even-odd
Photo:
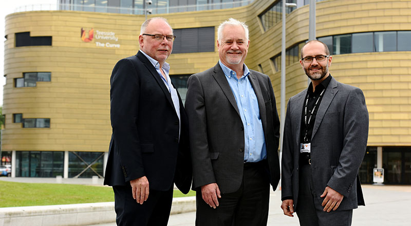
[[[239,189],[234,193],[221,194],[216,209],[210,208],[210,205],[204,202],[201,190],[197,191],[196,225],[267,225],[270,182],[264,161],[245,163]]]

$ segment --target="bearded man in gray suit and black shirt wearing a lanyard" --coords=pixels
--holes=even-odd
[[[368,138],[365,98],[331,77],[324,43],[308,42],[301,57],[311,83],[288,101],[281,208],[304,226],[351,225],[352,209],[365,205],[358,177]]]

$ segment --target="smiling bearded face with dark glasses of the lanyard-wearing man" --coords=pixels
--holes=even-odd
[[[329,56],[325,61],[322,62],[317,62],[317,60],[315,59],[315,56],[327,55],[324,45],[320,42],[307,43],[303,47],[302,53],[302,58],[305,58],[307,56],[312,56],[314,58],[311,63],[304,63],[302,60],[300,60],[300,64],[301,66],[303,66],[303,69],[308,78],[310,78],[312,81],[320,82],[326,79],[329,75],[328,67],[331,65],[332,56]]]

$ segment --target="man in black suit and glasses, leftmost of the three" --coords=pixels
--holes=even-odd
[[[111,74],[111,135],[104,184],[113,186],[118,225],[167,225],[173,182],[192,180],[185,111],[165,62],[175,36],[164,18],[145,21],[140,51]]]

